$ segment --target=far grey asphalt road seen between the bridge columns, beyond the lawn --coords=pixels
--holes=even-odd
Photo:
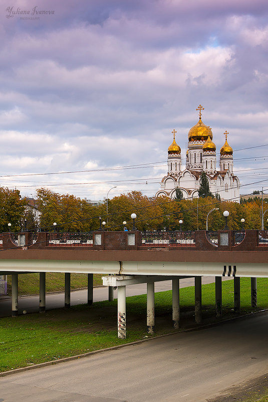
[[[228,280],[231,278],[225,277],[222,280]],[[202,277],[202,283],[214,282],[214,277]],[[194,279],[181,279],[180,288],[187,286],[193,286]],[[172,289],[171,281],[155,282],[155,292],[163,292]],[[126,287],[127,296],[135,296],[146,294],[146,284],[129,285]],[[87,303],[87,289],[71,292],[71,305]],[[117,291],[114,292],[114,297],[117,298]],[[93,290],[93,301],[100,302],[102,300],[108,300],[108,288],[99,287]],[[11,298],[0,297],[0,317],[7,317],[11,315]],[[46,309],[57,309],[64,307],[64,293],[50,293],[46,295]],[[34,313],[39,311],[39,296],[23,296],[19,298],[19,314],[22,314],[23,310],[28,313]],[[1,402],[1,401],[0,401]]]

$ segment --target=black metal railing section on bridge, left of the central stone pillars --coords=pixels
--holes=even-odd
[[[89,246],[93,244],[92,233],[49,233],[48,242],[52,246]]]

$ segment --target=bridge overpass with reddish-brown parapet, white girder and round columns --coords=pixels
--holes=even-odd
[[[0,234],[0,275],[12,275],[12,315],[18,315],[18,275],[40,273],[40,312],[45,311],[47,272],[65,273],[65,307],[70,307],[70,274],[88,274],[88,304],[93,274],[118,288],[118,336],[126,337],[126,291],[147,283],[147,328],[154,328],[154,283],[172,279],[172,318],[179,326],[179,279],[195,278],[195,321],[201,321],[201,277],[215,277],[216,315],[221,316],[221,279],[234,279],[234,310],[240,310],[240,277],[251,278],[256,306],[256,278],[268,277],[268,232],[218,230],[91,233],[22,232]],[[108,275],[108,276],[107,276]]]

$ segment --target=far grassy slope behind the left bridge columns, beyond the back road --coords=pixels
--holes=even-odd
[[[93,275],[93,286],[102,285],[103,274]],[[12,276],[8,275],[8,295],[11,296]],[[87,274],[71,274],[71,289],[86,288]],[[64,291],[64,274],[48,272],[46,274],[46,292]],[[39,274],[19,275],[19,296],[39,294]]]

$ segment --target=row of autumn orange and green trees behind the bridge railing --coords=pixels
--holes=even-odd
[[[204,194],[204,193],[202,193]],[[0,231],[8,231],[11,223],[12,231],[42,228],[64,232],[88,232],[97,230],[100,222],[107,221],[109,230],[123,230],[123,221],[127,228],[132,228],[131,213],[137,215],[135,226],[139,230],[176,230],[180,228],[179,220],[183,220],[183,230],[204,230],[206,217],[213,208],[219,208],[209,214],[208,229],[223,228],[225,219],[223,211],[229,211],[228,226],[240,229],[241,218],[245,219],[246,229],[261,228],[261,200],[255,199],[238,204],[220,201],[211,195],[194,199],[182,199],[180,194],[174,200],[168,197],[149,198],[139,191],[131,191],[108,200],[109,215],[106,215],[106,203],[93,206],[85,199],[73,195],[62,195],[41,188],[37,191],[36,208],[27,207],[27,200],[20,196],[18,190],[0,187]],[[265,205],[265,204],[264,204]],[[265,211],[265,209],[263,209]],[[264,215],[264,228],[268,228]],[[101,218],[101,220],[100,220]]]

